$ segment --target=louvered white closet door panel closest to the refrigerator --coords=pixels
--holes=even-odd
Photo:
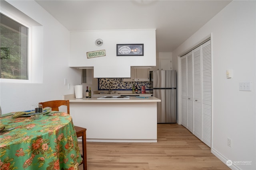
[[[188,108],[187,108],[187,57],[180,57],[181,70],[181,124],[188,127]]]

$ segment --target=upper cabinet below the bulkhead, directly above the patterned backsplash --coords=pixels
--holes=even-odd
[[[123,78],[123,82],[148,82],[149,68],[131,68],[131,77]]]

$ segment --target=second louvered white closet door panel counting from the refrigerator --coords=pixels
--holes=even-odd
[[[187,54],[187,90],[188,90],[188,130],[194,133],[192,52]]]

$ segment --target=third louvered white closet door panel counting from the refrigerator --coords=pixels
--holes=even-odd
[[[193,54],[193,87],[194,87],[194,135],[202,140],[202,73],[201,46]]]

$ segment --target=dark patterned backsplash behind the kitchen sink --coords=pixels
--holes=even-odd
[[[122,82],[122,78],[98,78],[98,90],[109,90],[110,82],[112,82],[112,90],[132,90],[133,84],[134,88],[138,87],[138,90],[141,86],[145,86],[146,90],[150,88],[150,82]]]

